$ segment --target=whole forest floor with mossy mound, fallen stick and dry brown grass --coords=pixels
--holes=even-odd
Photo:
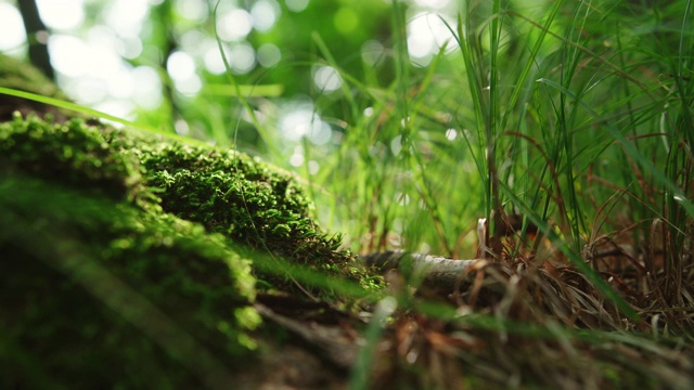
[[[286,172],[2,96],[4,388],[694,388],[691,264],[354,257]]]

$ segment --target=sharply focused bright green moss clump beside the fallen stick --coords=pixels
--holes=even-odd
[[[181,144],[108,130],[112,147],[137,156],[162,208],[236,243],[284,257],[362,287],[381,287],[346,251],[320,232],[294,176],[234,151]],[[261,274],[281,288],[282,275]]]

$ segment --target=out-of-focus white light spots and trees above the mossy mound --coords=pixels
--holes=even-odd
[[[272,135],[283,138],[287,148],[309,132],[312,143],[324,144],[339,131],[330,123],[338,110],[314,104],[333,99],[342,87],[336,69],[321,64],[318,39],[352,77],[369,74],[381,86],[393,80],[390,1],[38,0],[37,5],[48,31],[27,38],[17,2],[0,1],[0,51],[26,57],[27,40],[46,42],[56,81],[76,102],[147,125],[170,125],[181,134],[214,134],[222,143],[235,138],[243,148],[266,145],[244,123],[233,132],[242,112],[216,35],[244,93],[275,99]],[[452,20],[455,12],[450,0],[408,3],[413,64],[427,65],[450,38],[439,17]]]

